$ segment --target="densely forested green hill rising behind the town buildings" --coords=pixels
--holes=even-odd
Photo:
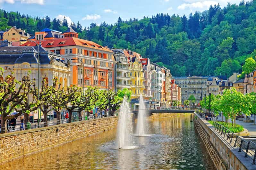
[[[0,11],[0,29],[16,25],[30,34],[45,27],[65,31],[67,20],[31,17]],[[173,76],[226,75],[242,72],[246,58],[256,56],[256,0],[226,7],[213,5],[208,11],[188,17],[156,14],[105,22],[82,28],[71,27],[79,37],[113,48],[128,48],[153,62],[164,64]]]

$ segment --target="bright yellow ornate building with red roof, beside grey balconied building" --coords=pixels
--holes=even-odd
[[[141,55],[124,49],[124,55],[128,57],[129,66],[128,69],[131,70],[131,84],[130,90],[132,91],[132,99],[140,97],[142,94],[145,97],[144,90],[145,90],[145,78],[142,63],[140,61]]]

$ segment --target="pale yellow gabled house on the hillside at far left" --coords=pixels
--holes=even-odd
[[[4,33],[3,40],[8,40],[9,42],[12,42],[13,46],[19,46],[25,43],[20,42],[20,40],[27,40],[30,37],[31,36],[29,35],[29,33],[26,33],[25,30],[12,27],[7,32]]]

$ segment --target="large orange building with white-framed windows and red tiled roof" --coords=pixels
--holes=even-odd
[[[39,35],[39,33],[35,33],[35,35]],[[65,61],[73,59],[71,62],[70,84],[83,87],[84,81],[85,87],[98,86],[100,89],[113,89],[113,51],[92,41],[79,39],[78,33],[72,28],[68,28],[61,35],[63,38],[57,38],[57,36],[46,39],[46,36],[44,36],[44,39],[40,42],[44,48],[61,55]],[[39,43],[39,40],[35,41]],[[26,42],[22,46],[35,45],[34,42]],[[84,77],[82,63],[84,63]]]

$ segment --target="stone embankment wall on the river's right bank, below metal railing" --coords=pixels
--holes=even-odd
[[[201,137],[209,156],[218,170],[253,169],[252,161],[244,158],[238,148],[233,148],[225,139],[212,129],[212,125],[197,114],[194,114],[194,125]],[[254,167],[255,168],[255,167]]]

